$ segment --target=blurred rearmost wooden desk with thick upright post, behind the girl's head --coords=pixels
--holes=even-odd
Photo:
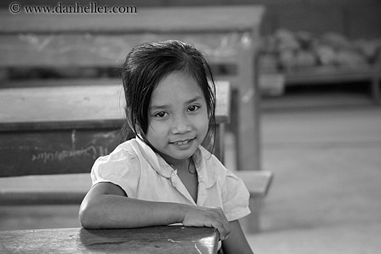
[[[166,6],[99,15],[12,15],[4,10],[0,13],[0,68],[118,68],[136,44],[163,39],[189,42],[204,51],[212,64],[237,67],[219,79],[231,81],[238,91],[232,121],[238,168],[259,170],[255,58],[264,12],[261,6]]]

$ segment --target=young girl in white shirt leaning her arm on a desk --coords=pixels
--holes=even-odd
[[[94,163],[82,226],[207,226],[218,229],[224,253],[252,253],[238,222],[250,212],[249,192],[202,147],[215,126],[202,53],[178,41],[145,43],[127,55],[122,73],[134,138]]]

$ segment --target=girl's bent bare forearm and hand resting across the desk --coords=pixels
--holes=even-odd
[[[130,199],[113,183],[97,183],[89,190],[81,203],[79,219],[84,228],[140,228],[182,223],[216,228],[220,239],[230,233],[229,222],[220,208]]]

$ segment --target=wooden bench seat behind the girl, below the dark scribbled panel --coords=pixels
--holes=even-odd
[[[246,232],[258,233],[262,201],[270,188],[273,174],[263,170],[234,173],[245,182],[250,192],[251,215],[240,219],[240,223]],[[89,173],[0,177],[0,186],[0,207],[79,205],[91,187],[91,178]]]

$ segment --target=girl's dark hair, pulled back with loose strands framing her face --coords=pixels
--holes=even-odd
[[[203,144],[209,145],[215,132],[215,82],[206,57],[194,46],[175,40],[148,42],[132,48],[122,67],[126,116],[123,140],[138,135],[145,143],[148,130],[148,107],[152,91],[170,73],[183,71],[200,86],[209,115],[209,129]],[[141,136],[141,137],[140,137]],[[153,147],[152,147],[153,148]]]

